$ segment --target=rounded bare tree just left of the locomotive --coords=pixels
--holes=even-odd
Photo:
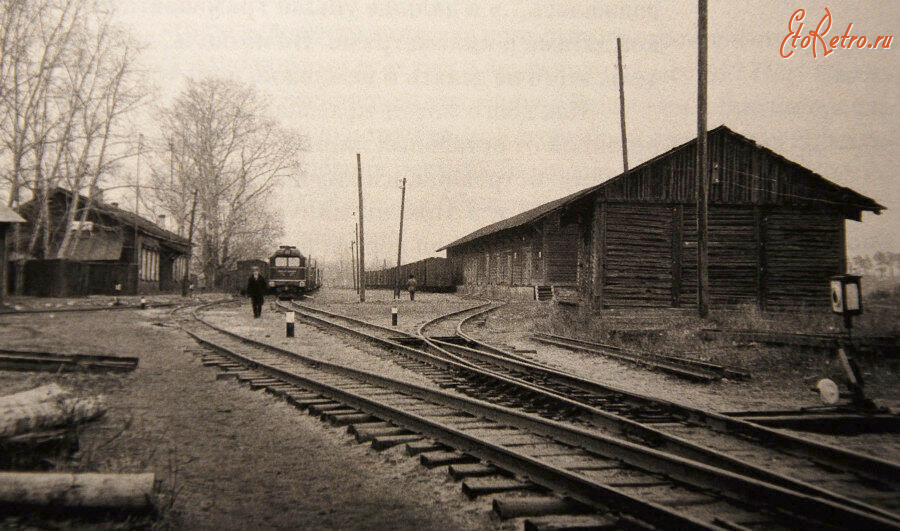
[[[189,80],[161,116],[154,198],[183,228],[197,190],[198,260],[214,285],[236,261],[258,258],[281,236],[274,193],[299,177],[303,140],[268,118],[250,87],[227,80]]]

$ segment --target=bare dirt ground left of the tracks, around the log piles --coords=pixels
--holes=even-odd
[[[216,381],[215,369],[185,352],[196,348],[193,341],[177,329],[158,326],[165,314],[145,310],[2,318],[4,345],[67,345],[83,353],[140,358],[139,368],[124,376],[0,372],[0,387],[9,392],[56,381],[79,394],[108,396],[109,412],[85,425],[81,451],[60,469],[156,473],[162,480],[163,516],[154,527],[500,527],[490,517],[489,500],[470,502],[457,483],[422,468],[401,448],[375,452],[343,429],[271,395]],[[32,525],[48,523],[2,522],[10,528]]]

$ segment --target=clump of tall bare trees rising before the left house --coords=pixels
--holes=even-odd
[[[93,189],[125,149],[121,118],[141,99],[135,46],[100,1],[0,0],[0,23],[0,183],[10,206],[36,205],[27,245],[14,236],[17,256],[47,257],[50,192]],[[66,226],[82,206],[73,197]],[[60,258],[72,241],[63,234]]]

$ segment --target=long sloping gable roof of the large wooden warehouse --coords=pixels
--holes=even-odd
[[[712,135],[712,134],[719,134],[719,133],[731,134],[731,135],[734,135],[735,137],[740,138],[748,143],[756,145],[756,142],[754,142],[753,140],[751,140],[747,137],[744,137],[743,135],[740,135],[738,133],[735,133],[734,131],[732,131],[731,129],[729,129],[728,127],[726,127],[724,125],[720,125],[719,127],[710,130],[708,134]],[[660,155],[657,155],[657,156],[653,157],[652,159],[647,160],[647,161],[641,163],[640,165],[635,166],[626,172],[620,173],[619,175],[617,175],[609,180],[606,180],[600,184],[585,188],[583,190],[580,190],[573,194],[567,195],[565,197],[561,197],[554,201],[550,201],[549,203],[544,203],[543,205],[532,208],[531,210],[526,210],[525,212],[522,212],[521,214],[516,214],[515,216],[512,216],[510,218],[506,218],[504,220],[501,220],[496,223],[492,223],[490,225],[482,227],[470,234],[467,234],[466,236],[463,236],[462,238],[459,238],[458,240],[455,240],[451,243],[448,243],[447,245],[444,245],[443,247],[437,249],[436,252],[443,251],[450,247],[456,247],[458,245],[462,245],[464,243],[468,243],[468,242],[483,238],[485,236],[489,236],[491,234],[498,233],[500,231],[513,229],[516,227],[521,227],[521,226],[533,223],[535,221],[538,221],[539,219],[547,216],[548,214],[550,214],[556,210],[559,210],[567,205],[570,205],[570,204],[574,203],[575,201],[582,199],[585,196],[588,196],[594,192],[602,190],[603,188],[606,188],[606,187],[612,185],[613,183],[617,183],[618,181],[621,181],[626,176],[628,176],[632,173],[636,173],[636,172],[644,169],[645,167],[659,161],[660,159],[668,157],[672,153],[694,144],[696,141],[697,141],[697,139],[693,138],[679,146],[676,146],[676,147],[666,151],[665,153],[661,153]],[[855,192],[855,191],[851,190],[850,188],[845,188],[840,185],[837,185],[837,184],[825,179],[821,175],[813,173],[811,170],[804,168],[803,166],[800,166],[799,164],[784,158],[783,156],[773,152],[772,150],[770,150],[768,148],[765,148],[765,147],[762,147],[759,145],[756,145],[756,147],[762,149],[763,151],[765,151],[767,153],[767,155],[769,155],[771,157],[777,158],[783,162],[786,162],[792,166],[795,166],[797,168],[802,169],[805,172],[812,174],[815,178],[817,178],[821,181],[822,185],[824,185],[828,188],[834,189],[834,191],[837,193],[836,195],[844,198],[844,200],[847,203],[853,204],[856,208],[859,208],[860,210],[868,210],[868,211],[875,212],[876,214],[879,214],[885,208],[884,206],[878,204],[874,200],[872,200],[858,192]]]

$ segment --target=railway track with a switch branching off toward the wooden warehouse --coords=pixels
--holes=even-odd
[[[462,332],[464,322],[496,306],[480,305],[443,316],[423,324],[418,336],[321,309],[292,308],[307,319],[340,327],[392,352],[412,354],[413,361],[404,358],[398,363],[413,370],[427,366],[432,371],[427,375],[436,383],[469,396],[546,418],[588,424],[661,451],[898,520],[900,466],[896,463],[585,380]],[[453,341],[448,341],[450,330],[458,334]],[[425,348],[420,349],[423,343]],[[436,368],[444,372],[435,374]]]

